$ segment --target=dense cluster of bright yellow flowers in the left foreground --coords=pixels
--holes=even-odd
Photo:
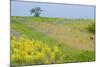
[[[16,38],[12,38],[11,47],[11,63],[16,63],[17,58],[22,58],[21,62],[23,64],[49,64],[54,63],[56,61],[56,57],[60,58],[61,55],[61,50],[58,46],[51,48],[48,44],[43,43],[41,40],[30,40],[24,37],[20,37],[18,40],[16,40]],[[59,54],[59,56],[56,54]],[[13,58],[15,59],[12,60]]]

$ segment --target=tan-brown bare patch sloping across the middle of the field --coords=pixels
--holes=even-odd
[[[90,36],[93,35],[88,32],[73,29],[63,24],[45,22],[33,22],[28,26],[55,38],[65,46],[76,49],[94,50],[94,39],[90,39]]]

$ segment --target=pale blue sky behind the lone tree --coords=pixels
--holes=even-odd
[[[42,17],[95,18],[95,6],[11,1],[11,16],[32,16],[30,10],[40,7]]]

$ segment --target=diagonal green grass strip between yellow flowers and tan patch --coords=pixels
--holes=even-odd
[[[44,33],[37,32],[36,30],[28,28],[28,27],[26,27],[26,26],[24,26],[23,24],[20,24],[20,23],[17,23],[17,24],[12,23],[12,29],[19,32],[21,34],[21,36],[28,37],[30,39],[41,40],[44,43],[49,44],[49,46],[51,46],[53,44],[57,44],[56,40],[54,40],[53,38],[45,36]]]

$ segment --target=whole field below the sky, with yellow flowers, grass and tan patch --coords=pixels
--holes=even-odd
[[[95,60],[93,19],[11,17],[11,65]]]

